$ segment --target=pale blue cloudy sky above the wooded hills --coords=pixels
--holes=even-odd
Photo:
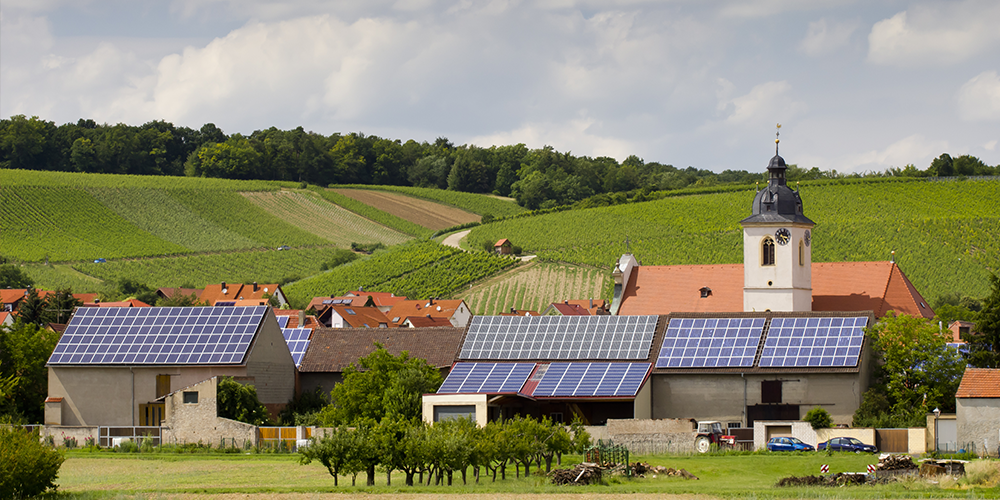
[[[0,0],[0,117],[721,172],[1000,164],[996,0]]]

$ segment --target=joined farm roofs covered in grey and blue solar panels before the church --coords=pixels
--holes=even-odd
[[[634,398],[653,373],[861,368],[871,313],[477,316],[437,394]]]

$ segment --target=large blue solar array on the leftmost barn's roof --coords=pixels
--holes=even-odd
[[[239,364],[266,306],[77,309],[49,364]]]

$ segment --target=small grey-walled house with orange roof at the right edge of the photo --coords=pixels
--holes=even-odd
[[[966,368],[955,402],[959,447],[1000,452],[1000,369]]]

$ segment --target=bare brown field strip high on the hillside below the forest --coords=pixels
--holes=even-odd
[[[445,229],[480,219],[480,216],[459,208],[397,193],[366,189],[334,189],[334,192],[427,229]]]

